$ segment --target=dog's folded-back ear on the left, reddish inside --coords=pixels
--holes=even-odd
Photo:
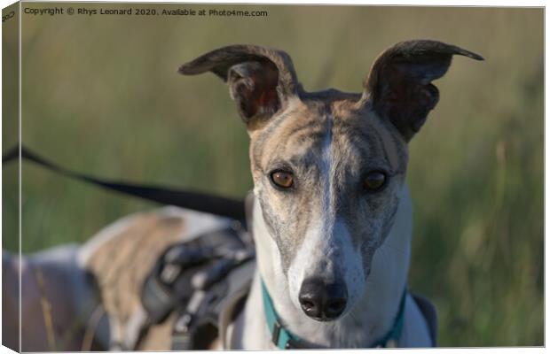
[[[298,81],[288,54],[254,45],[231,45],[182,65],[179,73],[212,72],[227,82],[240,117],[253,130],[296,96]]]

